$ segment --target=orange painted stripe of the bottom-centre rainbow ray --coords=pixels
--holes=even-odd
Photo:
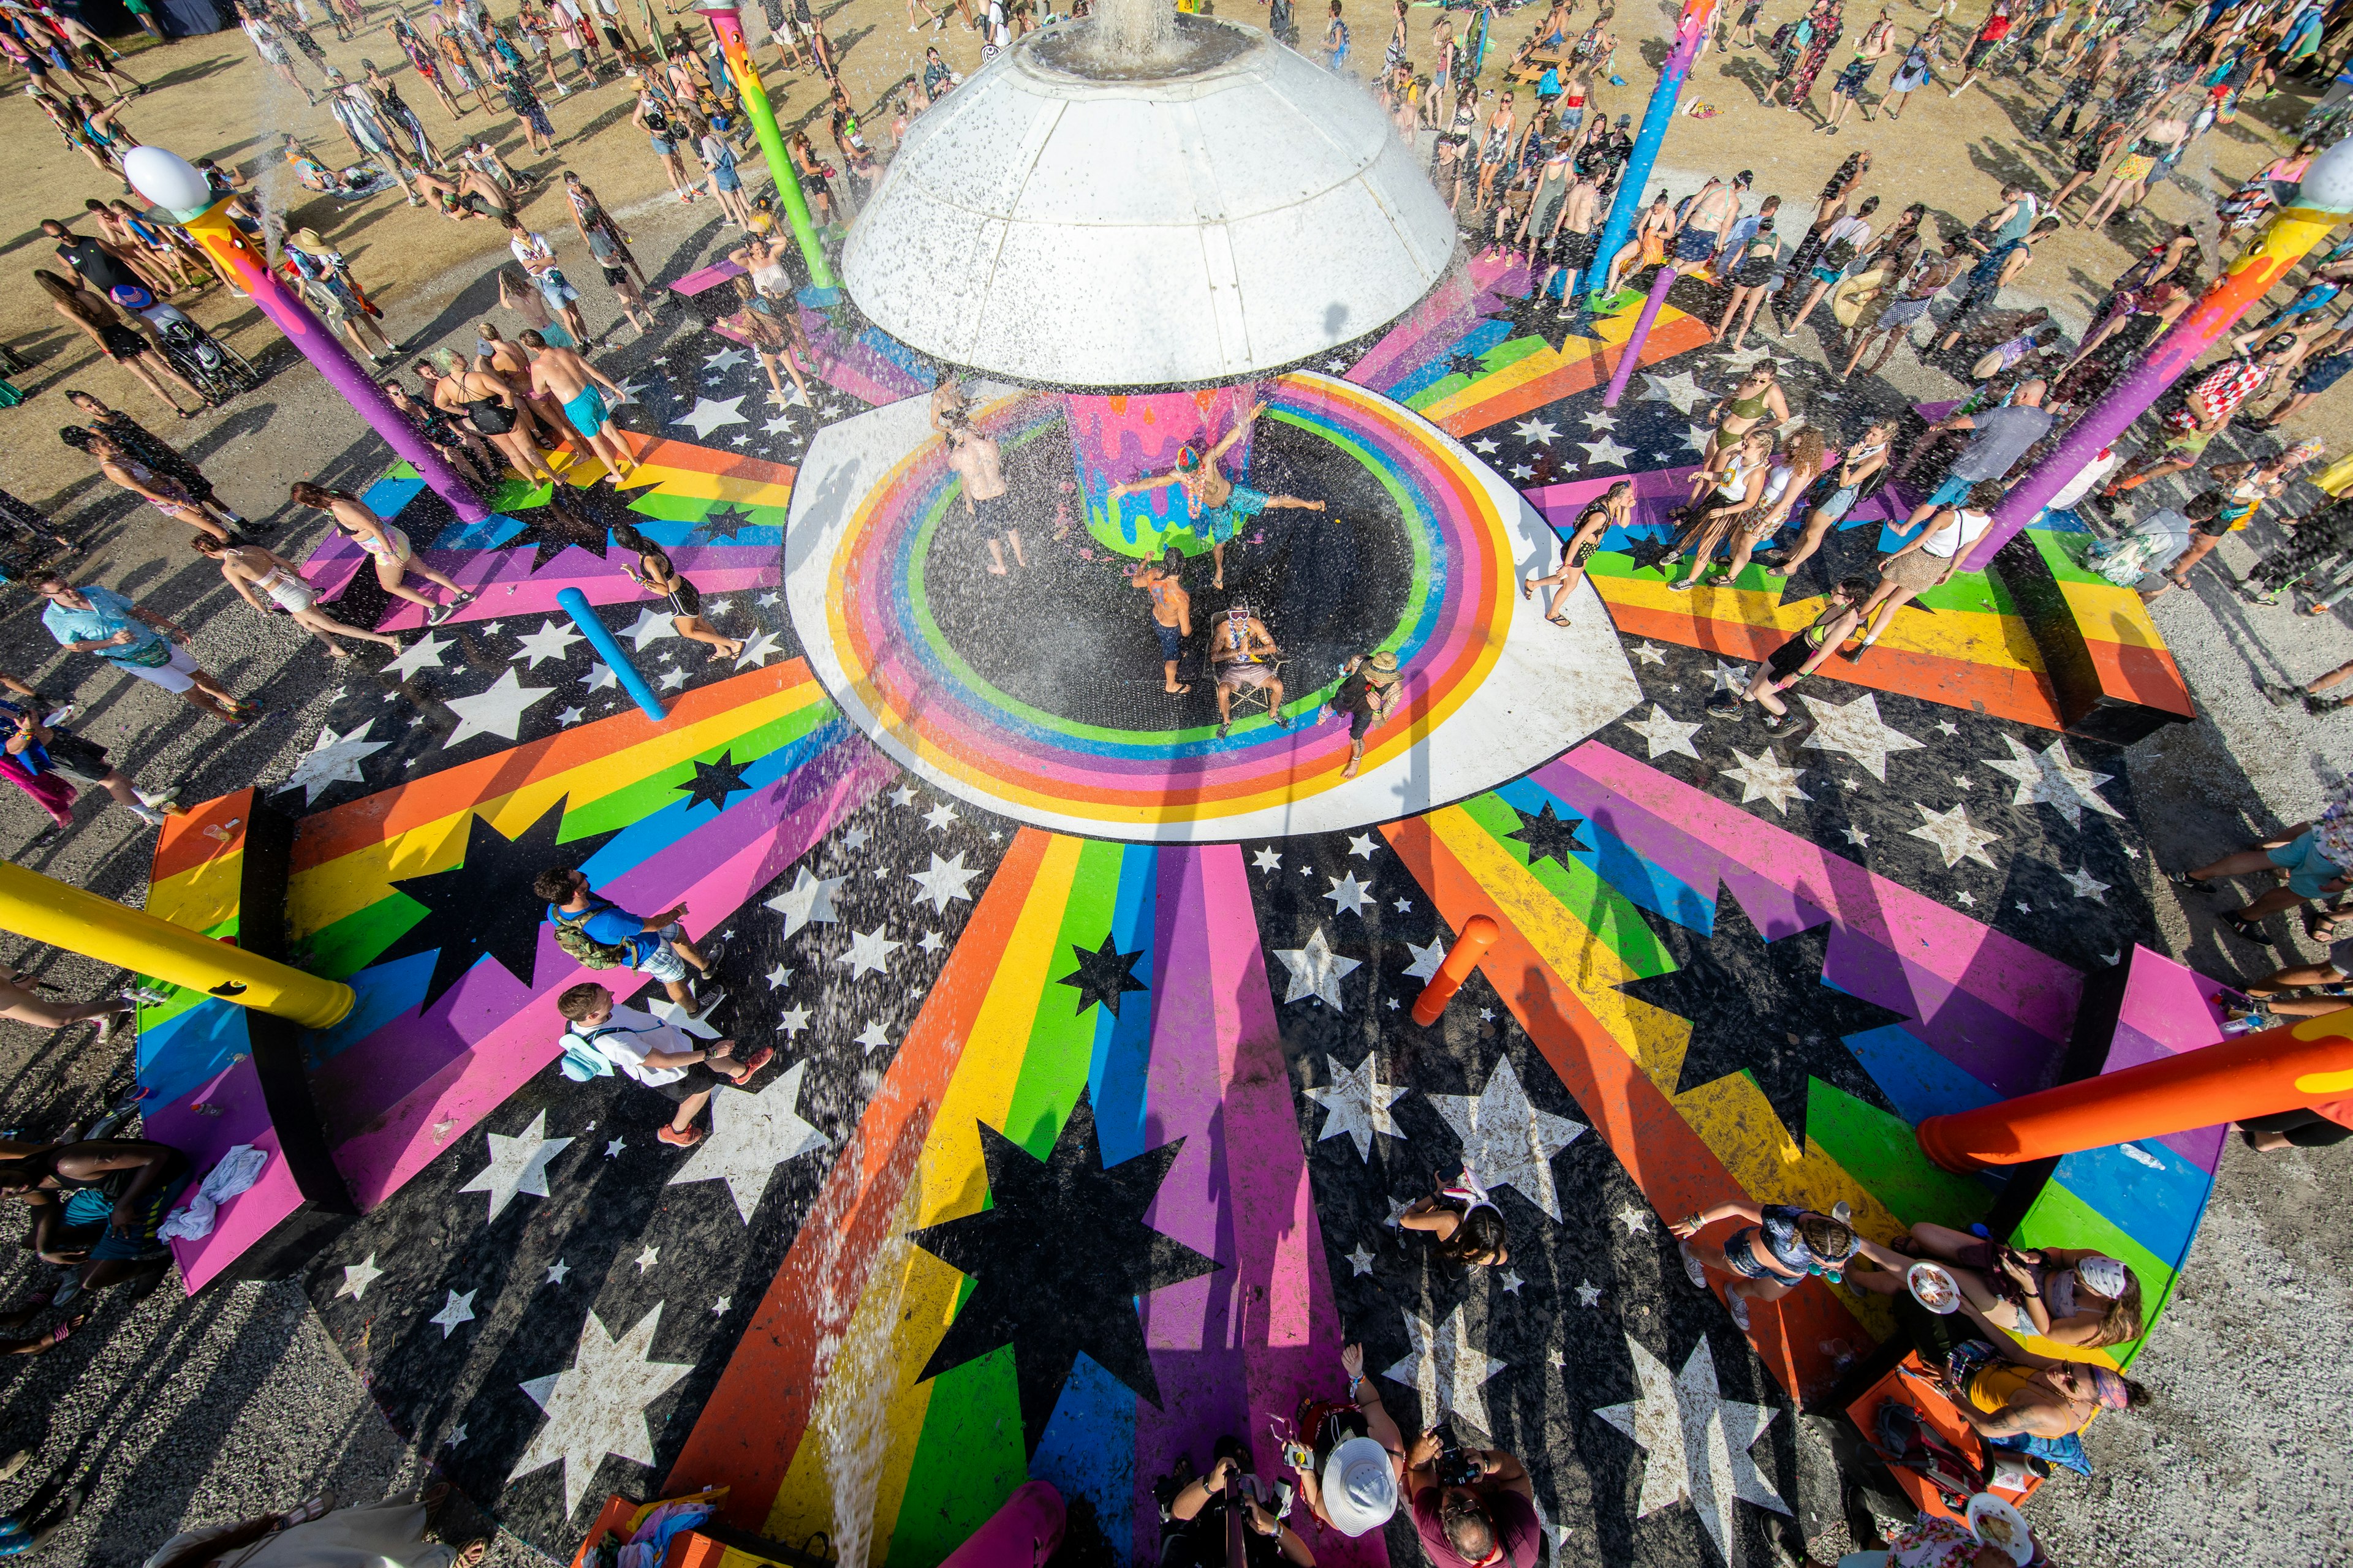
[[[671,1467],[671,1490],[734,1488],[725,1512],[746,1530],[765,1526],[776,1502],[1052,837],[1014,835]]]

